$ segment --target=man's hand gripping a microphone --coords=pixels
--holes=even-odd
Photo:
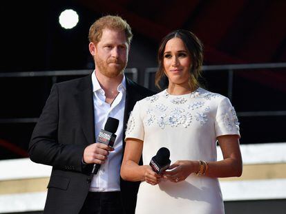
[[[86,164],[104,164],[110,151],[114,151],[113,147],[100,142],[93,143],[84,149],[83,160]]]

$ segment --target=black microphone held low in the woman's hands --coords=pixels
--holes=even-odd
[[[150,166],[152,167],[155,173],[162,173],[171,164],[170,158],[170,151],[169,149],[162,147],[158,150],[157,154],[151,159]]]

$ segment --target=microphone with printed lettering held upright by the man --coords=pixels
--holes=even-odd
[[[108,117],[104,129],[99,131],[99,135],[97,136],[96,141],[104,143],[109,147],[113,147],[116,135],[115,132],[118,128],[119,120],[116,118]],[[93,171],[91,173],[96,174],[100,168],[100,164],[93,164]]]

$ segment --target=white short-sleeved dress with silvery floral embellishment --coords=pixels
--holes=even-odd
[[[177,160],[216,161],[216,137],[240,136],[238,119],[229,99],[198,88],[174,96],[166,90],[140,100],[128,120],[126,138],[144,141],[143,164],[158,149],[170,150]],[[225,213],[217,178],[194,174],[178,183],[163,181],[152,186],[141,182],[136,213]]]

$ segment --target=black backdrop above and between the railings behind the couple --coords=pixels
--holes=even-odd
[[[73,9],[79,23],[61,28],[59,14]],[[178,28],[204,43],[204,65],[286,62],[286,1],[5,1],[1,3],[0,74],[70,69],[93,70],[88,29],[95,19],[118,14],[134,38],[128,67],[144,83],[156,67],[160,39]],[[285,111],[284,69],[234,71],[231,102],[236,111]],[[227,72],[204,71],[207,89],[227,96]],[[57,82],[76,76],[62,76]],[[35,122],[53,85],[51,77],[0,77],[0,159],[27,156]],[[151,88],[154,88],[151,85]],[[241,143],[285,142],[286,116],[239,116]]]

